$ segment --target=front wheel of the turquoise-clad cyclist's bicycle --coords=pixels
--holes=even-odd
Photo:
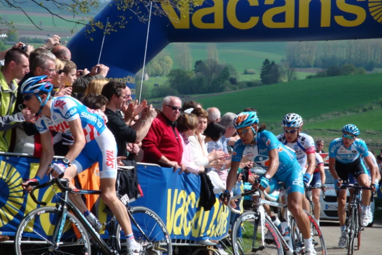
[[[232,224],[232,246],[234,255],[283,255],[280,237],[273,223],[265,218],[264,235],[269,231],[273,240],[261,247],[261,222],[256,212],[242,213]],[[267,239],[269,240],[269,239]]]

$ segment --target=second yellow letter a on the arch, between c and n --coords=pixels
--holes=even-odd
[[[272,5],[275,0],[265,0],[264,4]],[[274,22],[273,17],[285,13],[285,22]],[[262,23],[269,28],[293,28],[295,26],[295,0],[285,0],[284,6],[273,7],[262,16]]]

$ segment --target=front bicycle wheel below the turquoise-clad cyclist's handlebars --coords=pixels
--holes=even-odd
[[[239,239],[239,230],[241,230],[242,225],[247,225],[245,227],[245,231],[242,233],[241,238],[244,240],[247,240],[245,236],[247,236],[252,241],[251,244],[248,245],[248,241],[242,242],[240,245],[238,239]],[[231,240],[232,240],[232,250],[234,255],[247,255],[247,254],[253,254],[253,248],[260,249],[260,242],[258,241],[259,247],[253,247],[253,238],[254,234],[256,232],[255,236],[255,242],[256,237],[258,233],[258,225],[259,225],[259,217],[256,212],[243,212],[241,215],[234,221],[232,224],[232,233],[231,233]],[[283,255],[284,251],[282,249],[282,244],[280,237],[276,234],[276,229],[271,221],[269,221],[267,218],[265,218],[265,230],[267,229],[270,231],[270,233],[273,236],[273,242],[271,244],[266,244],[266,247],[264,247],[261,250],[261,254],[270,254],[270,255]],[[253,230],[253,232],[251,232]],[[265,234],[265,233],[263,233]],[[276,241],[275,241],[276,240]],[[269,249],[266,249],[269,248]],[[260,251],[260,250],[259,250]]]

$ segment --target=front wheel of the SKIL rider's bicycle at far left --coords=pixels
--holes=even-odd
[[[48,214],[49,213],[49,214]],[[53,228],[50,228],[48,233],[53,233],[54,229],[55,229],[55,225],[53,225],[56,221],[57,221],[57,217],[58,215],[55,217],[55,214],[58,214],[59,211],[57,211],[56,207],[53,207],[53,206],[47,206],[47,207],[40,207],[40,208],[37,208],[35,210],[33,210],[32,212],[29,212],[28,214],[25,215],[25,217],[21,220],[17,230],[16,230],[16,238],[15,238],[15,242],[14,242],[14,246],[15,246],[15,254],[17,255],[26,255],[26,254],[35,254],[35,252],[33,252],[34,250],[37,250],[35,249],[36,247],[38,247],[38,250],[39,250],[39,253],[40,253],[40,250],[41,250],[41,246],[44,245],[41,243],[41,241],[39,240],[43,240],[43,236],[39,233],[37,233],[36,231],[34,231],[34,226],[35,225],[40,225],[42,226],[41,224],[41,220],[40,218],[41,217],[46,217],[46,218],[42,218],[43,221],[46,221],[48,220],[50,222],[50,226],[53,227]],[[91,255],[91,244],[90,244],[90,240],[89,240],[89,237],[87,236],[87,232],[85,230],[85,228],[83,227],[82,223],[70,212],[67,212],[66,214],[66,220],[68,220],[67,223],[65,223],[64,225],[64,230],[62,231],[62,233],[65,233],[65,229],[69,229],[69,228],[72,228],[73,227],[73,224],[77,227],[78,229],[78,233],[81,235],[80,238],[82,238],[82,243],[78,243],[77,240],[79,240],[76,236],[76,234],[71,234],[69,235],[68,237],[61,237],[60,239],[60,246],[59,246],[59,249],[60,248],[69,248],[69,249],[65,249],[65,252],[61,252],[61,254],[70,254],[68,253],[68,250],[71,251],[73,250],[73,254],[75,255],[79,255],[79,254],[82,254],[82,255]],[[33,225],[32,225],[33,224]],[[44,228],[46,228],[46,225],[47,224],[44,224]],[[40,239],[39,238],[35,238],[35,237],[32,237],[33,240],[30,240],[30,232],[26,232],[26,230],[31,230],[31,232],[35,232],[37,235],[40,236]],[[29,235],[29,236],[28,236]],[[52,237],[51,235],[48,236],[49,237]],[[25,238],[25,239],[23,239]],[[48,240],[48,238],[45,238],[45,242],[50,242]],[[39,240],[36,240],[36,239],[39,239]],[[27,241],[30,242],[28,244],[25,244],[24,241]],[[52,242],[50,242],[52,243]],[[83,246],[82,249],[79,249],[78,246],[81,245]],[[70,249],[69,246],[75,246],[74,249]],[[23,250],[22,248],[26,248],[26,250]],[[43,248],[42,248],[43,249]],[[52,246],[51,247],[47,247],[48,251],[49,249],[52,249]],[[60,253],[59,249],[54,249],[53,251],[50,251],[49,254],[57,254],[57,253]],[[40,253],[40,254],[43,254],[43,253]]]

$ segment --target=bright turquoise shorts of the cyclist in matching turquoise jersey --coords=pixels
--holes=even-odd
[[[302,181],[302,171],[300,166],[295,164],[293,168],[282,172],[281,174],[276,173],[269,182],[269,193],[273,191],[278,191],[281,189],[281,184],[278,184],[279,181],[285,183],[285,190],[287,194],[291,192],[300,192],[304,194],[304,183]]]

